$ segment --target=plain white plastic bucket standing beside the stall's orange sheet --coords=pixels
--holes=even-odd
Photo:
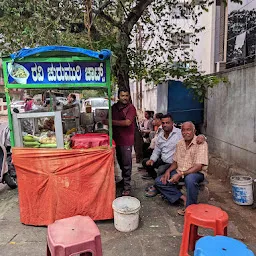
[[[131,196],[116,198],[112,207],[114,210],[114,225],[118,231],[130,232],[139,226],[140,201]]]

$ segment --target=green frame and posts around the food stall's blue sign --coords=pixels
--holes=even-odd
[[[53,53],[54,54],[54,53]],[[75,89],[75,90],[82,90],[85,88],[97,89],[97,88],[105,88],[108,92],[108,120],[109,120],[109,138],[110,138],[110,147],[112,147],[112,111],[111,111],[111,67],[110,67],[110,59],[100,60],[98,58],[87,57],[87,56],[74,56],[75,53],[70,56],[70,54],[66,54],[63,52],[64,57],[43,57],[43,56],[29,56],[24,58],[17,58],[15,61],[11,57],[3,57],[3,75],[4,75],[4,86],[5,86],[5,94],[6,94],[6,102],[7,102],[7,109],[8,109],[8,121],[9,121],[9,128],[10,128],[10,140],[11,146],[15,146],[14,140],[14,131],[13,131],[13,122],[12,122],[12,113],[11,113],[11,99],[9,94],[9,89]],[[11,83],[9,80],[9,71],[8,71],[8,64],[20,64],[23,65],[24,63],[64,63],[64,64],[72,64],[72,63],[85,63],[89,65],[90,63],[103,63],[105,65],[105,81],[104,82],[81,82],[81,83],[72,83],[65,82],[65,83]]]

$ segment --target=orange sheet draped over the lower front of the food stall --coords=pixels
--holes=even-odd
[[[74,215],[113,218],[114,148],[13,148],[20,220],[48,225]]]

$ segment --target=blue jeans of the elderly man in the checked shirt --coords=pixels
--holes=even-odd
[[[174,170],[171,172],[170,177],[172,177],[174,174],[177,172]],[[175,203],[179,198],[182,196],[182,193],[178,189],[177,184],[173,184],[171,182],[166,183],[164,185],[160,179],[162,176],[159,176],[155,179],[155,187],[157,190],[164,195],[167,200],[170,203]],[[191,173],[185,176],[184,182],[185,182],[185,187],[187,189],[187,203],[186,207],[191,205],[191,204],[196,204],[197,203],[197,196],[198,196],[198,191],[199,191],[199,183],[204,180],[204,175],[200,172],[197,173]],[[182,180],[180,180],[182,181]]]

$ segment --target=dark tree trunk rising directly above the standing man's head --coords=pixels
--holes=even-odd
[[[121,31],[119,35],[119,52],[117,54],[114,73],[117,77],[118,88],[126,89],[130,92],[129,85],[129,59],[127,55],[128,46],[130,44],[130,36]]]

